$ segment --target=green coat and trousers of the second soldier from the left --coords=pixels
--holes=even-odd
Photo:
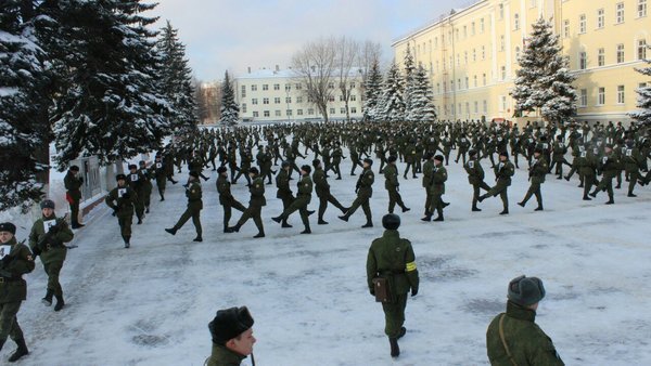
[[[55,225],[55,230],[50,235],[46,227]],[[29,247],[35,256],[40,256],[41,263],[46,274],[48,274],[48,292],[52,292],[56,297],[63,295],[63,289],[59,283],[59,274],[63,267],[63,262],[67,253],[65,243],[71,241],[75,237],[73,231],[68,227],[63,219],[51,218],[38,219],[31,226],[29,233]]]

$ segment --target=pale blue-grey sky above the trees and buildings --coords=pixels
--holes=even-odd
[[[476,0],[157,0],[149,15],[179,29],[190,66],[212,81],[229,69],[235,75],[289,66],[304,43],[347,36],[383,45],[391,60],[396,38]]]

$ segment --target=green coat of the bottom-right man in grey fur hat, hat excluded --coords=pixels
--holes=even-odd
[[[536,312],[511,301],[507,312],[497,315],[486,331],[486,349],[493,366],[565,365],[551,339],[535,323]],[[500,323],[501,334],[500,337]],[[503,344],[509,348],[511,357]]]

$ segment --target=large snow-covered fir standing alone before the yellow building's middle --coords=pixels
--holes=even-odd
[[[576,113],[576,92],[570,74],[570,61],[563,56],[559,36],[553,35],[551,23],[539,18],[533,25],[516,71],[516,113],[540,110],[547,121],[565,121]]]

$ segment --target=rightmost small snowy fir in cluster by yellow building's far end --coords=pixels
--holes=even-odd
[[[410,101],[406,109],[408,121],[433,122],[436,120],[436,108],[433,102],[434,91],[427,71],[422,65],[419,65],[411,74],[405,93],[406,99]]]

